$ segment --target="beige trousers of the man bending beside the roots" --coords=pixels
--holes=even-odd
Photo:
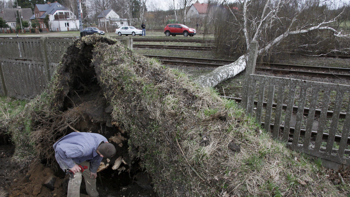
[[[90,162],[84,161],[82,163],[78,163],[78,165],[87,166],[87,169],[85,169],[84,173],[77,172],[75,174],[71,174],[68,182],[67,197],[79,197],[82,175],[84,176],[87,194],[90,197],[98,197],[98,192],[96,190],[96,178],[90,178]]]

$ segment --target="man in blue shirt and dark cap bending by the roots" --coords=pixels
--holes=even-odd
[[[70,133],[59,139],[53,147],[59,167],[63,171],[71,172],[67,197],[79,196],[82,175],[87,194],[97,197],[97,169],[103,157],[112,157],[116,154],[116,147],[108,143],[103,135],[85,132]],[[79,166],[87,166],[87,169],[84,171]]]

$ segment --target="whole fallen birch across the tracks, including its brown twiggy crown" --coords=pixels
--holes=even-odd
[[[202,86],[214,87],[245,69],[251,41],[259,42],[258,55],[273,50],[320,48],[329,52],[349,52],[350,34],[346,27],[346,7],[326,0],[237,0],[212,1],[209,13],[215,26],[215,43],[220,53],[239,57],[198,78]],[[220,5],[220,6],[218,6]],[[297,39],[296,35],[303,37]],[[322,35],[322,36],[320,36]],[[317,38],[317,39],[316,39]],[[290,39],[290,40],[288,40]],[[297,41],[296,41],[297,40]],[[342,44],[343,43],[343,44]],[[274,49],[275,48],[275,49]]]

